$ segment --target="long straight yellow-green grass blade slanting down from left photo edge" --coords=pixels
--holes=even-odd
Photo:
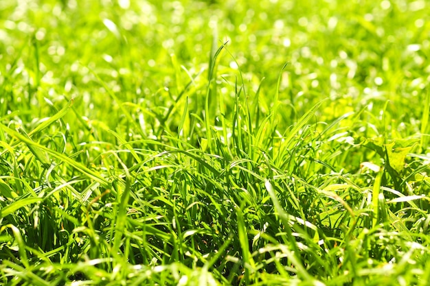
[[[54,150],[50,150],[48,147],[45,147],[41,144],[38,144],[32,139],[28,138],[27,136],[24,136],[23,134],[20,134],[19,132],[16,132],[15,130],[12,130],[8,128],[7,126],[4,126],[2,123],[0,123],[0,128],[2,128],[5,132],[10,134],[11,136],[14,136],[19,141],[22,141],[27,146],[31,145],[32,147],[42,150],[44,152],[47,152],[48,154],[51,154],[54,158],[57,158],[58,160],[63,161],[64,163],[67,163],[71,165],[71,167],[74,167],[78,171],[80,171],[84,176],[87,176],[88,178],[91,178],[92,180],[95,180],[96,182],[100,183],[103,187],[109,187],[109,181],[103,178],[100,174],[96,173],[95,171],[85,167],[81,163],[78,163],[65,154],[58,153]]]

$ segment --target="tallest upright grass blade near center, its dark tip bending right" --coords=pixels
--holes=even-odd
[[[216,95],[216,91],[214,91],[214,86],[216,85],[216,59],[220,55],[220,52],[224,49],[225,45],[227,45],[227,42],[225,42],[223,45],[221,45],[218,50],[216,50],[216,53],[214,54],[214,58],[212,61],[210,61],[210,68],[209,68],[209,80],[207,83],[207,93],[206,93],[206,100],[205,100],[205,127],[206,127],[206,139],[207,139],[207,147],[209,147],[210,152],[214,151],[213,143],[212,143],[212,130],[210,129],[210,102],[212,96],[214,94]],[[214,85],[214,86],[212,86]],[[214,110],[214,108],[212,108]]]

